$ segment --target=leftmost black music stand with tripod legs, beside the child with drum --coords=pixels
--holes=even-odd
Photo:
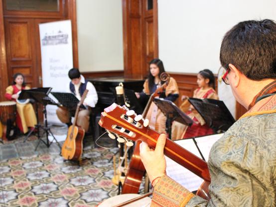
[[[46,105],[47,104],[53,104],[53,105],[58,105],[58,104],[55,103],[50,97],[48,97],[48,94],[51,90],[48,90],[47,92],[45,92],[45,91],[43,91],[43,90],[29,90],[29,92],[28,92],[28,94],[30,94],[30,97],[32,99],[34,99],[36,103],[40,103],[43,106],[43,114],[44,114],[44,126],[42,126],[41,124],[36,124],[35,125],[35,128],[37,129],[37,137],[38,137],[38,140],[39,140],[36,147],[35,147],[35,150],[37,149],[40,141],[42,141],[47,147],[50,147],[50,145],[53,143],[53,140],[55,140],[57,142],[59,148],[61,148],[61,146],[59,145],[58,141],[56,140],[54,134],[52,133],[50,127],[48,126],[47,111],[46,111]],[[42,135],[39,134],[39,129],[43,130]],[[24,141],[26,141],[26,139],[30,136],[30,134],[33,132],[33,130],[28,133],[28,135],[25,137]],[[44,134],[46,134],[46,142],[42,139]],[[49,138],[48,138],[49,134],[53,137],[53,140],[50,143],[49,143]]]

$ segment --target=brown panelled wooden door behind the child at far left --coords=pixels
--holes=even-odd
[[[4,19],[9,84],[13,74],[22,73],[27,85],[38,86],[33,24],[30,18]]]

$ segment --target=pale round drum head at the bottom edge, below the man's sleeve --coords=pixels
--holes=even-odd
[[[141,195],[139,195],[139,194],[122,194],[122,195],[114,196],[114,197],[111,197],[111,198],[105,200],[98,207],[113,207],[113,206],[122,204],[126,201],[137,198],[139,196],[141,196]],[[142,199],[135,201],[131,204],[128,204],[124,207],[149,207],[150,203],[151,203],[151,199],[149,197],[145,197],[145,198],[142,198]]]

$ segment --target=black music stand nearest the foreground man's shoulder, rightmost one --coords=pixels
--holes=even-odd
[[[189,102],[215,132],[225,132],[236,121],[223,101],[189,98]]]

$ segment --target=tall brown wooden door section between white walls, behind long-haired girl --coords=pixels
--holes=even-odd
[[[124,74],[143,79],[158,57],[157,0],[123,0]]]

